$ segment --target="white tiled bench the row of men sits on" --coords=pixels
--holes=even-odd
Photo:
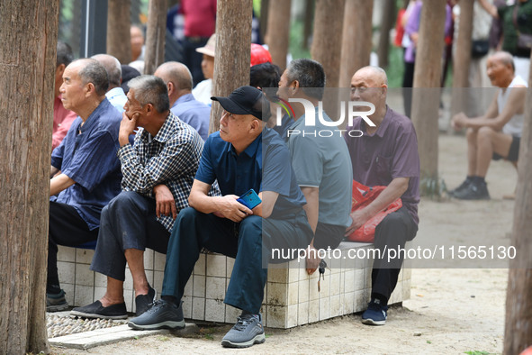
[[[272,328],[291,328],[365,309],[371,290],[371,259],[348,259],[347,250],[368,249],[372,244],[343,242],[340,259],[326,259],[330,269],[320,282],[318,272],[309,277],[297,260],[268,270],[265,300],[261,312],[264,324]],[[105,293],[106,278],[89,270],[94,251],[59,247],[58,268],[61,287],[69,305],[87,305]],[[344,257],[346,259],[344,259]],[[162,289],[166,256],[153,250],[144,254],[150,285]],[[223,304],[234,259],[219,254],[201,254],[193,276],[185,287],[185,318],[234,323],[239,310]],[[300,267],[301,266],[301,267]],[[124,298],[128,311],[134,312],[131,273],[126,270]],[[402,269],[390,304],[410,298],[410,269]]]

